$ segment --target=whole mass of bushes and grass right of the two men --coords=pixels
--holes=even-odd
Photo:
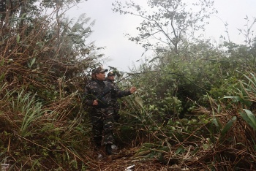
[[[247,168],[246,164],[255,162],[255,50],[231,42],[226,47],[188,42],[178,55],[159,50],[155,58],[145,58],[132,69],[123,86],[137,86],[138,94],[125,99],[122,119],[134,128],[130,131],[136,130],[137,140],[172,150],[170,157],[142,146],[135,159],[159,155],[161,161],[178,156],[186,161],[187,156],[202,155],[199,161],[207,167],[229,163],[215,167],[219,170],[230,165]],[[230,151],[245,150],[247,144],[250,159],[230,162],[240,157]]]

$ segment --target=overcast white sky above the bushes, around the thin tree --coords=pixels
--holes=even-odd
[[[106,47],[102,53],[108,60],[105,60],[103,65],[105,67],[115,66],[120,71],[128,72],[132,64],[138,64],[136,61],[150,54],[146,53],[141,57],[144,52],[143,47],[124,37],[124,34],[136,33],[136,26],[139,25],[140,19],[132,15],[113,13],[112,3],[114,1],[116,0],[85,1],[69,10],[69,18],[78,18],[79,15],[86,13],[91,20],[96,20],[92,27],[94,32],[89,41],[95,41],[98,47]],[[146,4],[146,0],[134,1]],[[211,37],[213,41],[219,42],[220,35],[225,35],[223,22],[227,22],[231,41],[244,40],[238,35],[237,28],[244,28],[246,15],[251,20],[253,17],[256,18],[256,0],[215,0],[214,7],[219,13],[211,18],[205,37]]]

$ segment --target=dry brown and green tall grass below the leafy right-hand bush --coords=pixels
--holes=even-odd
[[[244,76],[240,86],[233,87],[234,96],[206,96],[210,107],[198,106],[191,118],[173,117],[162,124],[157,111],[127,98],[129,110],[121,115],[140,141],[133,159],[157,159],[173,170],[256,170],[256,76]]]

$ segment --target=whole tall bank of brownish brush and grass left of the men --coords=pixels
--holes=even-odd
[[[0,7],[0,159],[13,170],[86,170],[91,126],[81,94],[102,56],[87,42],[94,21],[59,15],[72,1],[48,4],[61,7],[49,15],[38,1],[12,2],[12,12]]]

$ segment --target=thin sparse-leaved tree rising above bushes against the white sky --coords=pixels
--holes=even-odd
[[[129,40],[135,41],[148,50],[172,50],[176,54],[183,47],[184,39],[191,39],[195,31],[203,31],[206,19],[217,13],[213,0],[148,0],[148,8],[143,9],[135,2],[113,3],[113,12],[135,15],[143,18],[137,30],[140,34]],[[156,47],[154,47],[156,45]]]

